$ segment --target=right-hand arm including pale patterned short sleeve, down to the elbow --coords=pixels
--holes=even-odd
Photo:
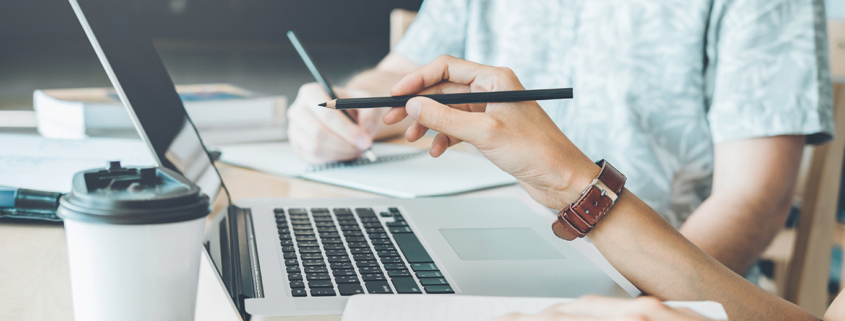
[[[832,133],[824,3],[717,1],[710,13],[714,185],[681,233],[743,274],[783,227],[804,135]]]

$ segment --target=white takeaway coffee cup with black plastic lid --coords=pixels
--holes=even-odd
[[[76,320],[193,320],[208,197],[163,168],[78,173],[62,197]]]

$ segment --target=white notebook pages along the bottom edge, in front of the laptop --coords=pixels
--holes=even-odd
[[[571,301],[560,298],[513,298],[463,295],[354,295],[343,310],[341,321],[474,321],[490,320],[511,312],[536,314],[549,306]],[[664,302],[685,307],[713,320],[727,320],[721,304]]]

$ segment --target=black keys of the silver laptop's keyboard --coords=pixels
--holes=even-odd
[[[395,207],[273,212],[295,297],[455,293]]]

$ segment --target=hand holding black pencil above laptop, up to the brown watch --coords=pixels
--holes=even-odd
[[[405,76],[390,93],[401,96],[524,89],[507,68],[442,56]],[[569,195],[571,184],[590,183],[571,182],[573,173],[598,169],[536,101],[447,106],[430,98],[416,97],[409,99],[405,107],[390,110],[383,120],[394,124],[409,116],[416,121],[405,132],[409,141],[419,140],[429,129],[439,132],[432,142],[431,156],[438,157],[448,147],[466,141],[516,177],[534,199],[550,208],[564,208],[577,199],[578,195]]]

